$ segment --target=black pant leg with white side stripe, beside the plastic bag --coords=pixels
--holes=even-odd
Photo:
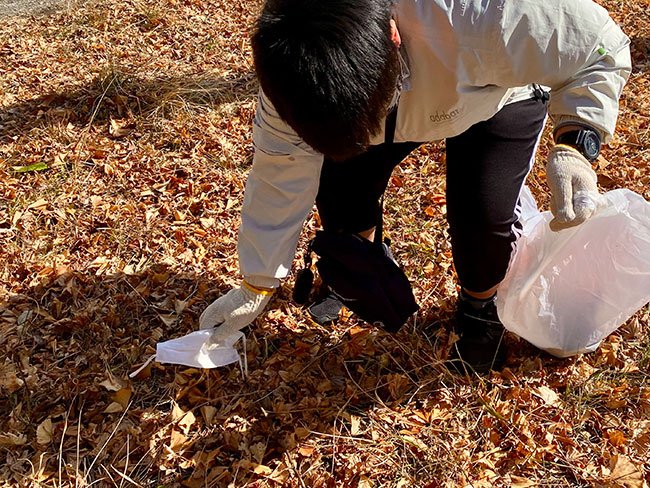
[[[503,280],[520,233],[519,195],[546,119],[530,99],[447,139],[447,219],[463,288],[483,292]]]

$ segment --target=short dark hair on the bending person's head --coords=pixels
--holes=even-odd
[[[267,0],[255,70],[278,114],[311,147],[347,159],[381,129],[399,74],[392,0]]]

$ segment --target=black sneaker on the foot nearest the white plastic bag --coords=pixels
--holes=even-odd
[[[496,296],[478,300],[461,291],[453,331],[460,337],[449,354],[456,372],[485,374],[501,369],[506,360],[505,329],[497,316]]]

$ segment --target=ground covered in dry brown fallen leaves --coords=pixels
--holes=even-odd
[[[599,183],[650,199],[650,6],[603,4],[635,66]],[[443,144],[387,197],[422,306],[397,335],[317,326],[289,281],[247,331],[247,377],[153,363],[129,379],[239,281],[257,9],[93,0],[0,18],[0,485],[647,485],[647,307],[589,355],[509,337],[503,372],[446,371],[448,337],[426,326],[457,293]],[[529,185],[546,208],[542,164]]]

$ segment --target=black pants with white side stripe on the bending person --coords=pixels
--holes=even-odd
[[[517,235],[519,194],[544,126],[546,106],[503,107],[447,146],[447,220],[460,284],[482,292],[505,276]],[[420,143],[372,146],[348,161],[325,160],[316,206],[325,229],[358,233],[379,221],[390,175]]]

